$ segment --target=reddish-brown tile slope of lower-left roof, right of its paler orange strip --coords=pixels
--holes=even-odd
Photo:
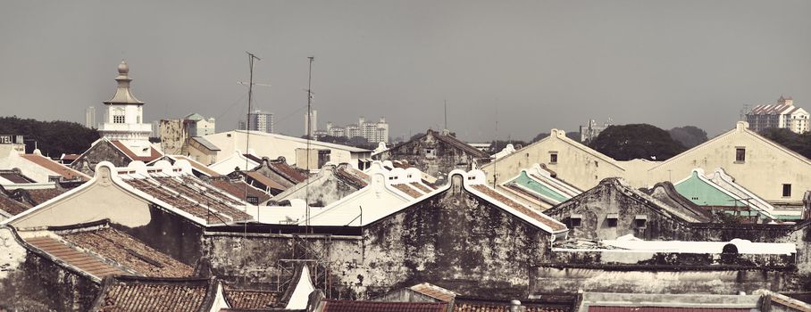
[[[144,242],[112,227],[63,234],[62,237],[65,241],[111,259],[138,275],[187,277],[194,274],[192,267],[171,259],[163,252],[154,250]]]

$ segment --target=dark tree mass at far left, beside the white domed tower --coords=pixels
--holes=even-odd
[[[98,131],[70,121],[39,121],[17,116],[0,117],[0,134],[23,135],[25,152],[33,152],[36,142],[43,155],[59,157],[63,153],[85,152],[99,138]]]

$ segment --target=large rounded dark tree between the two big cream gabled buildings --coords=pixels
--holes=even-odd
[[[686,150],[667,131],[648,124],[609,126],[589,147],[615,160],[667,160]]]

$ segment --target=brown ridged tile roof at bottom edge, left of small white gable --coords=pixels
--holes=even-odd
[[[91,311],[199,312],[211,309],[216,284],[206,278],[105,279]]]

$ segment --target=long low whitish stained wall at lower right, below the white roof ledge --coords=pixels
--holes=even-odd
[[[795,291],[798,276],[784,271],[740,270],[656,270],[537,267],[532,270],[531,294],[601,291],[629,293],[715,293],[738,291]]]

